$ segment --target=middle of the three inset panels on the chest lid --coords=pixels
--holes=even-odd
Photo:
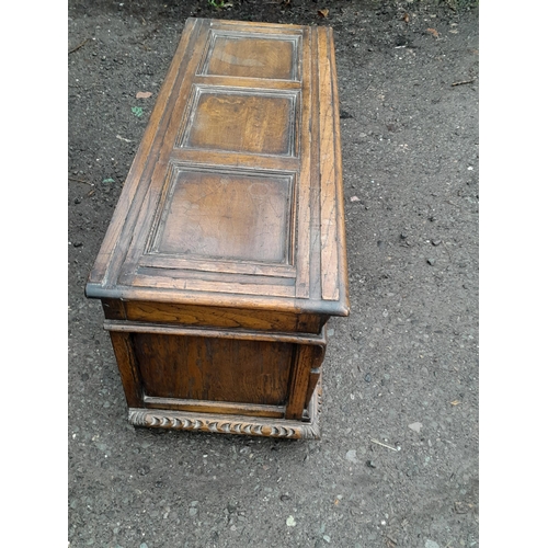
[[[297,95],[196,87],[181,146],[295,156]]]

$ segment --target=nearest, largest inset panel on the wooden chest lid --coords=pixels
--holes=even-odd
[[[293,178],[174,168],[149,253],[287,264]]]

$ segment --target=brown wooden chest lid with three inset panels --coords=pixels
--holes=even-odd
[[[331,30],[190,19],[88,297],[349,312]]]

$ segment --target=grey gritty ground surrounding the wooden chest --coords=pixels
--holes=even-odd
[[[69,546],[478,547],[477,9],[225,4],[68,2]],[[320,441],[128,425],[83,294],[189,16],[334,30],[352,311]]]

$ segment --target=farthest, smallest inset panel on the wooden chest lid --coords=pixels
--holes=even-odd
[[[296,80],[299,36],[212,31],[199,73]]]

